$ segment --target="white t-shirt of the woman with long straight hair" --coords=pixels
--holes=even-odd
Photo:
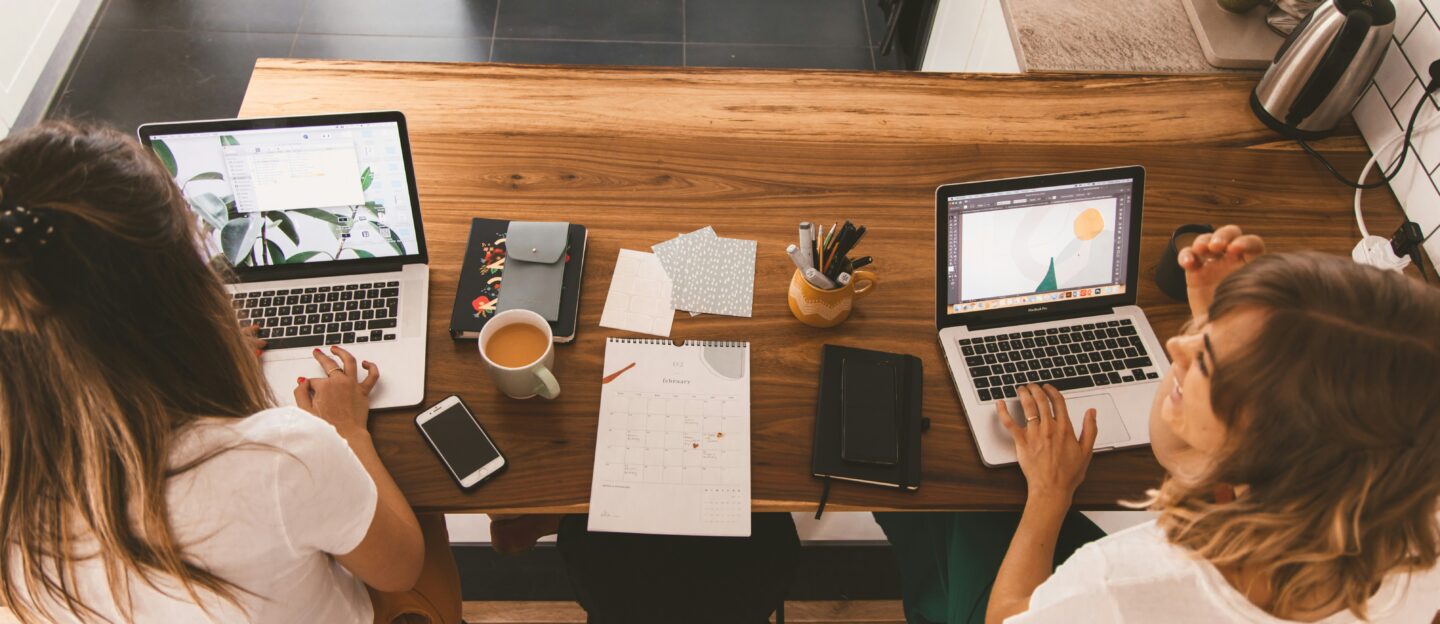
[[[364,584],[331,555],[360,545],[377,493],[336,428],[298,408],[207,418],[180,434],[171,465],[217,448],[228,450],[170,478],[170,526],[190,561],[253,595],[239,594],[240,611],[202,592],[207,615],[179,582],[166,579],[161,592],[132,575],[134,621],[372,623]],[[98,559],[79,563],[76,578],[85,604],[125,621]],[[50,614],[79,621],[56,605]]]

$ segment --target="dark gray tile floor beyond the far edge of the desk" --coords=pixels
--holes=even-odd
[[[897,69],[878,0],[105,0],[50,115],[233,117],[261,56]]]

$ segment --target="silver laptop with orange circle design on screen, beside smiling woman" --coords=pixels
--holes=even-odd
[[[1135,306],[1143,167],[946,184],[936,190],[936,326],[985,465],[1015,463],[996,404],[1051,383],[1096,451],[1149,444],[1169,360]]]

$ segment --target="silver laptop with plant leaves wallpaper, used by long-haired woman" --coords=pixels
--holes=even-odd
[[[372,408],[425,398],[429,267],[405,115],[147,124],[140,140],[176,177],[226,262],[236,318],[269,342],[265,378],[294,404],[340,344],[380,366]]]

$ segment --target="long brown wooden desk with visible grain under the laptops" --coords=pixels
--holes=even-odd
[[[409,118],[431,245],[426,401],[461,395],[510,460],[507,474],[464,494],[415,432],[419,409],[377,414],[380,455],[418,507],[585,510],[603,340],[622,334],[599,327],[616,252],[713,225],[759,241],[755,317],[683,317],[672,337],[752,343],[756,510],[811,510],[819,497],[809,457],[822,343],[920,356],[933,422],[919,491],[837,483],[831,509],[1018,509],[1024,480],[981,465],[936,342],[935,187],[1143,164],[1139,297],[1164,339],[1185,320],[1151,281],[1175,226],[1236,222],[1272,249],[1341,254],[1359,236],[1351,195],[1251,117],[1251,82],[262,59],[240,112],[396,108]],[[1323,146],[1344,171],[1368,157],[1354,128]],[[1368,200],[1372,231],[1400,222],[1388,192]],[[553,402],[503,398],[474,342],[446,334],[472,216],[589,226],[580,333],[559,347]],[[877,258],[878,291],[835,330],[802,326],[785,304],[785,245],[799,220],[844,219],[870,226],[863,249]],[[1148,448],[1102,454],[1076,503],[1113,507],[1159,477]]]

